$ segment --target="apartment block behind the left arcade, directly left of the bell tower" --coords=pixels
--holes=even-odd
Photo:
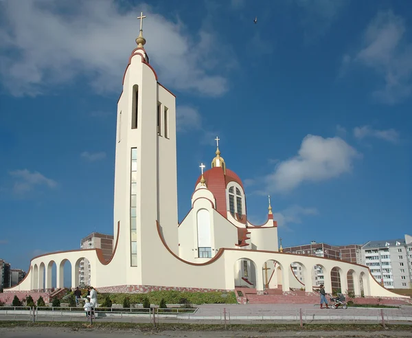
[[[102,249],[103,257],[106,260],[111,258],[113,252],[113,235],[92,232],[80,240],[80,249]],[[80,261],[79,286],[89,286],[91,284],[91,267],[87,259]]]

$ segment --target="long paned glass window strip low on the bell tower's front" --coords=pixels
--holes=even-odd
[[[132,148],[130,164],[130,265],[137,267],[137,148]]]

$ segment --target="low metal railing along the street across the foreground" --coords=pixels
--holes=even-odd
[[[412,322],[412,306],[404,308],[95,308],[87,316],[76,307],[0,307],[0,320],[32,322],[135,322],[135,323],[202,323],[202,324],[268,324],[314,322],[380,323]]]

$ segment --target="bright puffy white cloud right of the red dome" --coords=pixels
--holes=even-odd
[[[324,181],[352,170],[361,155],[340,137],[307,135],[298,155],[281,161],[266,178],[269,191],[287,192],[305,181]]]

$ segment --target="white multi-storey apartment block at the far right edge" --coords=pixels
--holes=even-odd
[[[412,236],[371,240],[362,247],[365,265],[387,289],[412,289]]]

